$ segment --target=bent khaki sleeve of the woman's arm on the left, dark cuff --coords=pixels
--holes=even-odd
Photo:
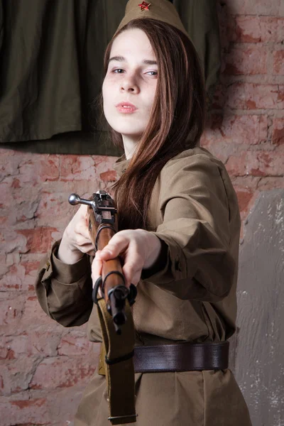
[[[82,325],[92,311],[92,278],[89,256],[67,265],[56,258],[60,241],[40,262],[35,292],[43,310],[65,327]]]

